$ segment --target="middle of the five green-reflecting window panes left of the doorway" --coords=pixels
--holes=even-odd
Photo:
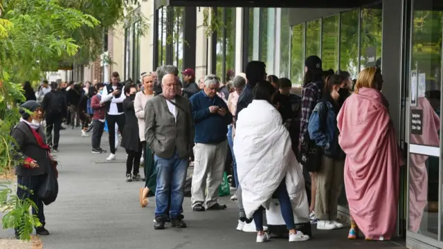
[[[338,15],[323,18],[321,59],[323,69],[338,69]]]

